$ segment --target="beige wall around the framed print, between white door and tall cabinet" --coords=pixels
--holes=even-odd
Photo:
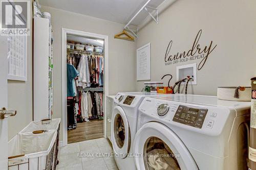
[[[30,30],[32,30],[32,11]],[[31,31],[30,36],[28,36],[27,49],[28,81],[8,80],[8,109],[17,110],[15,116],[8,117],[9,140],[33,120],[32,35],[33,32]]]

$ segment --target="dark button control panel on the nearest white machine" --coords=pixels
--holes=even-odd
[[[188,126],[202,128],[208,109],[179,105],[173,121]],[[213,124],[213,123],[212,123]]]

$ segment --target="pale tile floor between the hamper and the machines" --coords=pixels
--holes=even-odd
[[[105,138],[71,143],[60,149],[57,170],[118,170],[114,157],[107,156],[111,153],[112,145]]]

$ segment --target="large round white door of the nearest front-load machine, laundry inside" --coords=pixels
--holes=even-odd
[[[161,123],[143,125],[134,139],[138,170],[198,170],[198,166],[181,139]]]

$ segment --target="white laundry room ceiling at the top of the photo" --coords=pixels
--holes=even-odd
[[[146,2],[147,0],[39,0],[40,5],[122,24],[129,22]],[[152,0],[148,6],[157,8],[163,2],[164,0]],[[143,10],[132,22],[132,25],[139,25],[146,16],[147,13]]]

